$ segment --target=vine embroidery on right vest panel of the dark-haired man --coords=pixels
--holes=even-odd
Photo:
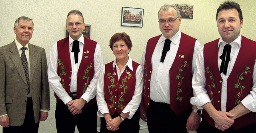
[[[241,103],[241,99],[239,99],[239,98],[240,98],[241,95],[244,95],[243,89],[245,88],[245,85],[242,84],[242,80],[244,80],[244,76],[243,76],[243,75],[244,75],[244,74],[247,75],[248,72],[252,73],[251,71],[248,71],[249,69],[250,69],[250,67],[246,67],[246,68],[245,68],[245,71],[241,71],[241,73],[239,73],[239,74],[237,75],[237,77],[238,77],[238,83],[234,84],[234,88],[238,90],[238,93],[237,93],[237,96],[238,96],[238,97],[236,97],[236,103],[235,103],[234,106],[236,106],[236,105],[238,105],[239,103]]]

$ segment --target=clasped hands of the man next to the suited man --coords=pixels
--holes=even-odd
[[[68,109],[73,115],[77,115],[82,113],[82,108],[84,107],[84,105],[85,105],[84,99],[79,98],[79,99],[73,100],[73,103],[68,107]]]

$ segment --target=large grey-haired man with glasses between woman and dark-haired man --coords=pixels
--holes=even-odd
[[[170,4],[158,11],[161,35],[150,38],[141,64],[144,93],[140,117],[149,133],[187,133],[200,123],[200,110],[192,107],[192,75],[201,44],[182,32],[179,9]],[[173,132],[174,133],[174,132]]]

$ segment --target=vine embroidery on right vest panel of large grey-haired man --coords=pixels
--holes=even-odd
[[[180,67],[178,67],[178,75],[176,75],[176,79],[180,79],[180,82],[178,82],[178,89],[177,89],[177,97],[176,99],[179,101],[182,101],[182,96],[180,96],[180,93],[182,93],[182,88],[180,86],[183,84],[183,79],[185,78],[184,75],[182,75],[183,69],[185,69],[186,66],[188,66],[188,61],[184,61],[184,64],[181,64]]]

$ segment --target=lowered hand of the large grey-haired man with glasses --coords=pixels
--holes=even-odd
[[[187,131],[195,131],[197,130],[201,121],[201,115],[196,114],[195,112],[191,112],[190,116],[187,120]]]

